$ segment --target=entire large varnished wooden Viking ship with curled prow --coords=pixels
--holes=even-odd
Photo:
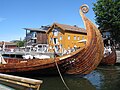
[[[87,30],[85,47],[67,55],[49,59],[4,58],[6,64],[0,64],[0,73],[20,75],[58,74],[56,65],[64,74],[89,74],[101,62],[103,57],[103,40],[97,27],[84,15],[87,5],[80,7],[80,15]]]

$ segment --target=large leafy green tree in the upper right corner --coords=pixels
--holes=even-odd
[[[97,0],[93,5],[99,29],[108,30],[111,37],[120,42],[120,0]]]

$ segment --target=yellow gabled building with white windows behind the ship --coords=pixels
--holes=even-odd
[[[47,31],[49,51],[64,52],[72,48],[83,47],[80,40],[86,39],[86,30],[77,26],[54,23]]]

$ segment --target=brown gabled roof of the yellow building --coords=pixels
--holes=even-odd
[[[53,23],[51,28],[54,26],[62,28],[64,31],[79,32],[79,33],[87,34],[87,32],[84,28],[79,28],[77,26],[70,26],[70,25],[66,25],[66,24]],[[51,30],[51,28],[48,29],[47,33]]]

